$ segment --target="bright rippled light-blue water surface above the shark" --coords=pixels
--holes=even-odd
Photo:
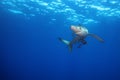
[[[70,23],[97,23],[99,20],[95,17],[102,16],[120,18],[120,2],[118,0],[52,0],[49,2],[44,0],[3,0],[0,5],[14,14],[27,15],[29,18],[36,15],[60,14],[66,18],[66,22]],[[56,19],[51,17],[51,20],[55,21]]]

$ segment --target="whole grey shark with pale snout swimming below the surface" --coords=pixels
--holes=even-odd
[[[84,26],[71,25],[70,30],[72,31],[72,34],[73,34],[73,39],[71,41],[65,40],[61,37],[58,38],[59,41],[61,41],[62,43],[66,44],[68,46],[70,52],[72,51],[73,45],[76,43],[80,43],[78,48],[80,48],[82,45],[87,44],[87,41],[85,39],[88,36],[91,36],[91,37],[97,39],[101,43],[104,42],[104,40],[101,37],[99,37],[98,35],[89,33],[88,29]]]

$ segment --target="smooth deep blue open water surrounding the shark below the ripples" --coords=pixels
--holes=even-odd
[[[49,15],[29,20],[1,10],[0,80],[120,80],[120,19],[88,25],[105,43],[88,37],[70,53],[57,39],[72,39],[59,16],[49,24]]]

